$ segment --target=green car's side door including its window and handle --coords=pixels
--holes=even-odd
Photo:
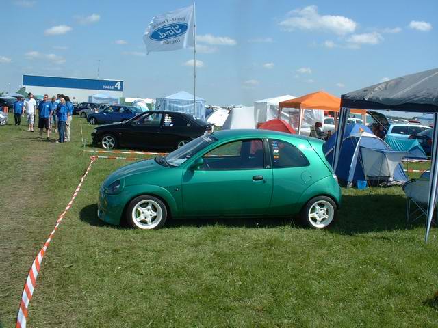
[[[184,215],[266,215],[272,194],[266,147],[261,139],[242,139],[204,154],[201,167],[183,172]]]

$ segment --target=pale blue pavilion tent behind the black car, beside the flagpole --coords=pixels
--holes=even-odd
[[[205,100],[196,97],[196,101],[194,101],[194,96],[185,91],[164,98],[157,98],[155,109],[158,111],[179,111],[205,120]]]

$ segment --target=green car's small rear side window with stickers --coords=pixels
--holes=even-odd
[[[269,149],[274,169],[309,165],[306,156],[298,148],[286,141],[269,139]]]

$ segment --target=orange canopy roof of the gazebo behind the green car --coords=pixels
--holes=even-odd
[[[332,96],[331,94],[318,91],[311,94],[305,94],[295,99],[279,102],[279,107],[282,108],[298,108],[298,109],[321,109],[323,111],[339,111],[341,108],[341,98]],[[365,109],[351,109],[350,113],[366,114]]]

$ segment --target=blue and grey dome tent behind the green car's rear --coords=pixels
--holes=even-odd
[[[406,182],[407,176],[400,161],[407,153],[391,150],[387,143],[370,132],[361,124],[347,126],[336,169],[339,182],[347,187],[363,180],[372,184]],[[334,147],[335,135],[324,145],[324,154],[329,163]]]

